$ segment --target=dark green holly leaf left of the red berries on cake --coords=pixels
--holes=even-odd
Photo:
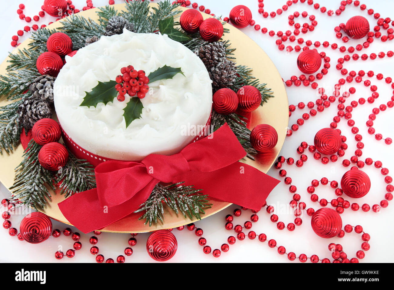
[[[98,103],[104,103],[106,105],[108,102],[113,102],[113,99],[117,95],[115,85],[115,80],[99,82],[91,92],[85,92],[86,95],[80,106],[96,107]]]

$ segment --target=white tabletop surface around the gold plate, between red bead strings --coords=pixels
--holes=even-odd
[[[157,2],[157,1],[155,1]],[[25,0],[23,2],[26,5],[24,14],[33,17],[39,11],[43,0]],[[120,0],[115,0],[115,3],[121,3]],[[262,27],[268,27],[268,30],[282,30],[286,31],[290,29],[294,30],[294,27],[288,25],[288,15],[294,11],[307,11],[309,14],[314,14],[318,25],[314,32],[308,32],[306,35],[301,34],[299,37],[303,37],[305,40],[311,39],[312,43],[314,41],[320,41],[321,43],[325,40],[330,43],[336,42],[338,45],[342,45],[340,39],[336,39],[334,27],[341,22],[346,23],[346,21],[355,15],[362,15],[368,19],[370,22],[370,28],[376,25],[376,20],[367,15],[366,11],[361,11],[359,7],[354,7],[353,4],[348,5],[346,10],[340,15],[340,17],[329,17],[327,14],[320,13],[320,10],[315,10],[312,6],[307,5],[307,3],[293,4],[293,6],[284,12],[282,15],[272,18],[264,19],[258,14],[258,2],[257,0],[217,0],[217,1],[200,1],[201,5],[205,5],[206,8],[211,9],[212,13],[216,15],[223,15],[223,17],[228,16],[230,9],[238,4],[244,4],[248,6],[253,13],[253,19],[256,20],[256,24],[260,24]],[[328,9],[333,9],[334,11],[338,9],[340,1],[328,1],[320,0],[318,1],[320,6],[326,6]],[[381,13],[381,17],[392,17],[394,15],[387,15],[388,11],[393,11],[394,2],[388,0],[371,1],[364,0],[362,3],[367,5],[367,9],[373,8],[375,12]],[[7,51],[11,51],[13,48],[9,44],[11,42],[11,36],[15,35],[17,30],[23,29],[26,25],[25,21],[19,19],[16,10],[18,9],[19,2],[10,1],[6,2],[2,0],[2,9],[0,14],[0,27],[2,28],[1,43],[0,48],[0,58],[3,59],[7,56]],[[73,4],[77,8],[81,8],[85,5],[83,0],[74,0]],[[108,4],[107,0],[94,0],[94,6],[102,6]],[[276,11],[279,7],[285,4],[285,1],[264,1],[264,9],[268,12]],[[279,6],[280,5],[280,6]],[[39,24],[47,24],[49,21],[54,21],[53,17],[45,16],[40,20]],[[306,22],[301,16],[299,21],[301,24]],[[32,21],[30,25],[34,24]],[[243,29],[247,35],[249,35],[254,41],[256,41],[263,49],[267,52],[269,57],[273,60],[274,64],[277,66],[279,72],[284,80],[289,79],[292,75],[299,75],[300,71],[296,66],[297,53],[291,52],[290,54],[279,51],[277,45],[275,45],[275,40],[277,37],[269,37],[268,34],[263,35],[261,32],[256,32],[253,27],[247,27]],[[20,37],[20,41],[26,39],[28,34]],[[361,41],[351,40],[345,46],[354,46]],[[376,54],[380,51],[387,53],[389,50],[394,50],[392,41],[387,41],[382,43],[380,40],[374,41],[368,49],[363,49],[359,52],[359,55],[366,53],[370,54],[375,52]],[[285,45],[290,44],[289,42]],[[292,43],[293,47],[295,43]],[[236,43],[234,43],[236,47]],[[338,79],[342,77],[340,72],[335,69],[336,60],[343,56],[338,50],[333,51],[330,48],[324,49],[320,47],[318,51],[325,51],[327,55],[331,58],[331,69],[329,74],[319,81],[320,87],[326,88],[327,95],[330,95],[333,91],[333,85],[338,82]],[[256,62],[259,56],[255,55]],[[383,73],[385,77],[394,77],[392,75],[392,63],[393,60],[390,58],[377,58],[374,61],[368,60],[366,62],[357,60],[356,62],[347,62],[344,67],[349,71],[355,70],[356,72],[360,69],[364,71],[373,70],[376,73]],[[264,65],[264,64],[263,64]],[[365,78],[364,78],[365,79]],[[387,103],[392,95],[392,89],[390,86],[385,84],[383,80],[378,81],[375,78],[372,79],[372,84],[376,84],[378,87],[378,92],[380,94],[379,98],[374,104],[366,104],[355,110],[353,110],[353,120],[356,122],[356,126],[359,127],[360,133],[363,136],[362,142],[365,144],[365,148],[362,150],[363,155],[361,160],[365,160],[366,157],[371,157],[374,161],[381,160],[383,162],[383,167],[387,167],[389,170],[394,170],[392,167],[394,157],[392,155],[392,149],[394,144],[388,146],[383,141],[376,141],[372,135],[368,135],[367,127],[365,122],[368,120],[368,115],[371,113],[372,108],[379,107],[381,103]],[[359,97],[364,97],[365,99],[370,96],[371,92],[369,89],[364,88],[362,84],[356,84],[353,82],[351,86],[355,86],[357,92],[351,97],[351,99],[358,99]],[[349,86],[348,86],[349,87]],[[286,87],[289,103],[297,104],[300,101],[305,102],[315,101],[318,96],[316,92],[310,88],[305,88],[302,85],[298,88],[294,86],[288,88]],[[345,105],[349,105],[351,100],[347,100]],[[319,113],[317,117],[312,118],[305,122],[305,125],[301,126],[299,131],[295,132],[292,137],[286,138],[284,146],[282,148],[281,155],[284,157],[294,157],[297,158],[296,148],[302,141],[306,141],[309,144],[313,144],[313,137],[315,133],[323,128],[328,127],[329,123],[332,122],[333,116],[336,115],[337,109],[334,103],[329,109],[325,109],[323,113]],[[392,110],[386,110],[385,112],[379,113],[377,120],[374,121],[374,127],[376,133],[382,133],[383,137],[394,137],[394,130],[392,129]],[[305,110],[306,112],[306,110]],[[303,112],[296,111],[290,118],[290,125],[295,123],[297,118],[301,117]],[[353,155],[355,148],[354,135],[351,134],[350,128],[346,125],[344,119],[341,120],[338,126],[344,135],[348,137],[349,149],[346,151],[346,158],[350,158]],[[293,166],[284,166],[283,168],[287,170],[288,176],[292,177],[293,184],[297,186],[298,191],[301,195],[301,199],[307,203],[307,207],[313,207],[315,210],[319,208],[318,204],[312,203],[309,199],[309,194],[306,192],[306,188],[310,185],[310,181],[313,179],[320,180],[322,177],[327,177],[329,180],[336,180],[340,182],[340,179],[346,168],[341,165],[342,158],[335,165],[330,163],[329,165],[322,165],[320,161],[313,159],[312,155],[307,153],[309,160],[305,163],[302,168],[297,168]],[[349,169],[349,168],[348,168]],[[384,198],[386,193],[385,183],[383,181],[383,176],[380,174],[380,170],[372,167],[364,167],[364,171],[370,176],[372,188],[368,195],[361,198],[361,200],[354,200],[352,198],[346,198],[351,203],[358,202],[359,204],[368,203],[379,204],[379,202]],[[271,176],[279,178],[277,170],[270,170],[268,172]],[[392,173],[392,172],[391,172]],[[282,179],[281,179],[282,180]],[[331,200],[336,198],[333,190],[320,185],[316,192],[320,198],[326,198]],[[8,193],[4,186],[1,186],[1,198],[7,197]],[[267,202],[275,206],[275,213],[279,215],[279,220],[283,221],[286,225],[287,223],[294,221],[294,215],[289,212],[279,212],[280,207],[284,207],[290,202],[291,195],[288,191],[288,186],[281,182],[269,195]],[[390,202],[392,203],[392,202]],[[227,210],[217,213],[214,216],[208,217],[196,223],[197,227],[201,227],[204,230],[204,237],[208,240],[208,245],[213,249],[220,248],[222,243],[226,243],[227,237],[229,235],[234,235],[234,231],[227,231],[224,229],[224,217],[228,213],[232,213],[232,210],[236,206],[231,206]],[[329,206],[331,208],[331,206]],[[243,211],[241,217],[235,218],[234,225],[241,224],[249,219],[251,212]],[[24,215],[12,216],[11,221],[13,226],[19,228],[19,223]],[[276,239],[278,245],[283,245],[286,247],[286,251],[293,251],[297,256],[301,253],[307,254],[310,257],[312,254],[317,254],[320,258],[329,257],[331,258],[331,253],[327,249],[329,243],[341,243],[344,247],[344,251],[348,254],[348,258],[355,257],[356,251],[360,250],[361,247],[361,236],[352,232],[351,234],[346,234],[344,238],[333,238],[333,239],[322,239],[312,231],[310,227],[310,217],[306,214],[303,215],[303,225],[296,227],[294,232],[289,232],[288,230],[277,230],[274,223],[269,220],[269,214],[266,211],[261,211],[258,213],[259,221],[253,225],[252,230],[257,234],[264,232],[267,234],[268,239]],[[368,213],[364,213],[361,209],[357,212],[353,212],[350,209],[345,210],[345,213],[341,215],[343,224],[351,225],[362,225],[365,232],[368,232],[371,236],[370,245],[371,249],[366,251],[366,256],[361,262],[392,262],[394,258],[394,252],[392,251],[392,241],[394,238],[394,233],[392,230],[393,224],[393,205],[390,204],[388,208],[383,209],[380,213],[374,213],[372,210]],[[53,228],[59,228],[63,230],[65,225],[53,221]],[[75,228],[73,228],[75,230]],[[169,262],[289,262],[286,255],[281,256],[277,253],[276,248],[271,249],[268,247],[267,243],[260,243],[257,239],[251,241],[245,239],[244,241],[238,241],[235,245],[230,245],[230,251],[227,253],[222,253],[219,259],[216,259],[210,255],[203,254],[202,247],[197,244],[197,236],[194,232],[189,232],[188,230],[183,230],[179,232],[178,230],[173,230],[177,240],[178,240],[178,251],[177,254]],[[247,232],[245,232],[247,233]],[[95,257],[89,253],[90,244],[88,239],[91,235],[82,235],[82,249],[78,251],[74,258],[63,258],[62,260],[56,260],[54,258],[55,251],[58,248],[62,248],[65,253],[67,249],[72,248],[72,240],[70,237],[65,237],[61,235],[61,238],[50,237],[44,243],[38,245],[28,244],[26,242],[19,241],[16,237],[11,237],[8,235],[7,230],[0,229],[0,261],[3,262],[57,262],[57,263],[67,263],[67,262],[94,262]],[[145,248],[145,243],[149,234],[138,234],[137,245],[133,247],[134,253],[131,257],[126,257],[126,262],[153,262],[153,260],[148,256]],[[130,238],[129,234],[109,234],[102,233],[99,236],[98,246],[100,248],[100,253],[104,254],[105,258],[116,258],[119,254],[123,254],[123,250],[128,246],[127,240]],[[332,259],[331,259],[332,260]],[[298,262],[298,260],[294,261]]]

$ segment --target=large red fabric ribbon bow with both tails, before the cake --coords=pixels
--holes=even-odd
[[[141,163],[100,163],[95,168],[97,188],[76,193],[58,206],[72,225],[88,233],[137,210],[158,182],[184,181],[211,198],[260,210],[279,180],[238,162],[245,155],[225,124],[174,155],[151,154]]]

